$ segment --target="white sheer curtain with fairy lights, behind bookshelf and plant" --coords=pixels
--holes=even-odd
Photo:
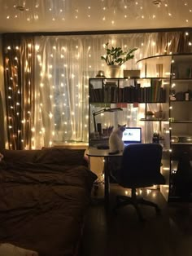
[[[104,44],[124,50],[137,47],[135,58],[122,69],[140,69],[137,60],[158,54],[157,37],[157,33],[36,37],[34,148],[87,142],[89,77],[95,77],[98,70],[107,74],[100,58],[105,54]],[[122,123],[126,118],[124,113]]]

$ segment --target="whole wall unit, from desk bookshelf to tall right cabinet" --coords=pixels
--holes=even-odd
[[[154,132],[159,133],[166,179],[160,190],[169,202],[191,201],[192,55],[153,56],[137,64],[140,78],[89,79],[89,145],[107,143],[111,126],[118,123],[141,126],[143,143],[151,143]],[[99,126],[94,129],[93,113],[101,109],[107,112],[97,116]],[[154,116],[149,117],[149,111]]]

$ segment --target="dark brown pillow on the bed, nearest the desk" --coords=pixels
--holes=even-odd
[[[81,166],[85,164],[84,153],[85,149],[42,148],[33,162]]]

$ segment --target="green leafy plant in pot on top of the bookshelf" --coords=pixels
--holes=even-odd
[[[129,49],[128,51],[123,51],[121,47],[111,47],[108,48],[109,42],[106,43],[106,55],[101,56],[101,60],[105,60],[109,68],[112,70],[118,70],[120,72],[120,66],[126,61],[133,59],[133,52],[137,48]],[[116,73],[111,73],[111,77],[116,77]]]

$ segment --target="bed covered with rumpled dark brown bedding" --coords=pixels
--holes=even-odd
[[[83,223],[97,176],[85,150],[3,150],[0,161],[0,243],[39,256],[79,254]]]

